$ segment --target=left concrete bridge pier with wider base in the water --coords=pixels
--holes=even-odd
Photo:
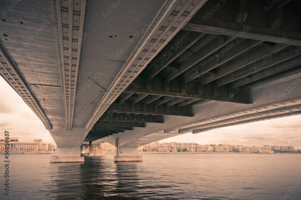
[[[80,156],[80,147],[57,147],[57,156],[51,156],[50,162],[84,162],[84,157]]]

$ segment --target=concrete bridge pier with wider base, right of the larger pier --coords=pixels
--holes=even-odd
[[[114,161],[143,161],[143,158],[138,155],[138,147],[118,147]]]

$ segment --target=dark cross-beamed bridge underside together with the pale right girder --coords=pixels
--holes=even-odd
[[[85,140],[114,144],[107,136],[119,133],[120,146],[138,147],[184,133],[300,114],[301,29],[293,17],[299,16],[300,3],[283,1],[266,12],[267,4],[207,1]]]

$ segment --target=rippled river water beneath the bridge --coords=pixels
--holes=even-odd
[[[85,163],[9,156],[9,196],[1,159],[0,199],[301,199],[301,154],[144,154],[115,163],[113,154]]]

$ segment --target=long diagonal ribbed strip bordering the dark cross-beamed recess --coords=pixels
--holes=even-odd
[[[107,108],[118,98],[123,90],[132,83],[147,64],[172,40],[206,1],[183,2],[177,0],[173,1],[170,5],[164,5],[160,9],[154,19],[154,23],[145,32],[139,45],[120,71],[120,75],[116,77],[106,95],[102,98],[88,121],[85,130],[92,129],[95,122],[106,112]]]

